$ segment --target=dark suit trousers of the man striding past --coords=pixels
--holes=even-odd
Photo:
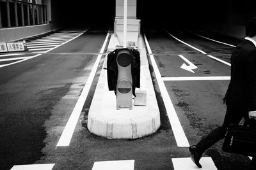
[[[196,148],[200,152],[205,152],[208,148],[210,148],[214,143],[220,141],[221,139],[225,138],[225,134],[227,132],[228,125],[232,124],[239,124],[239,122],[245,118],[248,120],[248,111],[241,111],[234,108],[227,107],[226,115],[224,118],[223,125],[221,127],[217,127],[212,132],[210,132],[207,136],[201,139],[196,144]],[[248,124],[250,127],[256,128],[255,120],[248,120]],[[256,166],[256,157],[253,157],[251,166]]]

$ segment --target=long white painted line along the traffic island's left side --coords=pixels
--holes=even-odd
[[[108,37],[109,37],[109,33],[106,36],[106,39],[102,45],[100,53],[104,52],[104,49],[106,48],[106,43],[108,41]],[[86,81],[86,84],[84,85],[83,91],[81,92],[81,95],[80,95],[79,99],[77,100],[76,106],[75,106],[74,110],[72,111],[70,118],[68,119],[65,129],[63,130],[61,137],[57,143],[57,146],[68,146],[70,143],[73,132],[76,128],[77,121],[78,121],[81,111],[83,109],[84,102],[86,100],[86,97],[87,97],[90,87],[92,85],[93,78],[94,78],[97,68],[99,66],[101,57],[102,57],[102,54],[99,54],[95,61],[95,64],[92,68],[90,76],[88,77],[88,80]]]

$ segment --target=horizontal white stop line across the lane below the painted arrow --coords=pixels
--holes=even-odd
[[[163,81],[230,80],[230,76],[163,77]]]

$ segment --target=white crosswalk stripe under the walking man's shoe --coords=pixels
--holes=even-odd
[[[191,158],[172,158],[172,163],[174,170],[217,170],[211,157],[202,157],[200,159],[202,168],[198,168]]]

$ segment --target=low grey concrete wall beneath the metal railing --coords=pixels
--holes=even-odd
[[[54,29],[58,29],[58,27],[58,24],[43,24],[28,27],[13,27],[0,29],[0,42],[28,38],[30,36],[35,36],[37,34],[42,34],[45,32],[52,31]]]

